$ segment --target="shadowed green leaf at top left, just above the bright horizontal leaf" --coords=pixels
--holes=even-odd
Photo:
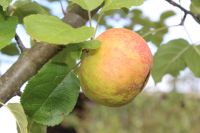
[[[37,2],[32,1],[16,1],[13,6],[13,15],[19,18],[20,23],[23,22],[23,18],[30,14],[49,14],[47,8],[41,6]]]

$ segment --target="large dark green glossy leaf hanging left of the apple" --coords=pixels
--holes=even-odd
[[[32,120],[53,126],[73,110],[79,89],[79,80],[67,65],[48,63],[29,81],[21,103]]]

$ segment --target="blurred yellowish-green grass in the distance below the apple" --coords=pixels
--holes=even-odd
[[[78,133],[200,133],[200,97],[143,93],[130,104],[110,108],[88,104],[85,118],[67,118]]]

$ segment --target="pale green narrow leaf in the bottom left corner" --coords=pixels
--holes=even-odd
[[[19,103],[9,103],[6,107],[11,111],[11,113],[15,116],[17,121],[17,125],[20,129],[20,133],[28,133],[28,121],[26,118],[26,114],[24,113],[23,107]]]

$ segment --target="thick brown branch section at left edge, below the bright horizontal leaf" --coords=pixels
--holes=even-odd
[[[17,95],[20,87],[59,50],[58,46],[36,44],[25,51],[0,78],[0,101],[5,103]]]

